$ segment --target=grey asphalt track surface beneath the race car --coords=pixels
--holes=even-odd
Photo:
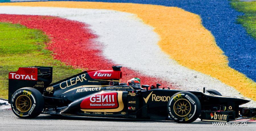
[[[255,130],[256,123],[247,126],[213,126],[212,122],[196,120],[190,124],[173,121],[146,121],[80,116],[39,115],[35,119],[20,119],[11,110],[0,110],[0,130]]]

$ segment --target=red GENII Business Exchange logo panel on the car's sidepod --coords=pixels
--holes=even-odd
[[[86,97],[80,104],[82,109],[114,109],[118,107],[117,93],[98,93]]]

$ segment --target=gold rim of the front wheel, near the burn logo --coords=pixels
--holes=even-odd
[[[190,113],[191,104],[186,99],[179,99],[174,103],[173,109],[176,115],[184,117]]]

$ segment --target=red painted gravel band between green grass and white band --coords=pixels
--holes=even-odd
[[[88,29],[90,25],[58,17],[33,15],[0,14],[0,21],[19,23],[44,31],[51,40],[46,48],[53,51],[54,59],[66,65],[89,70],[112,70],[111,66],[116,65],[102,56],[101,49],[104,47],[94,41],[97,35]],[[122,68],[122,72],[122,82],[138,77],[142,84],[156,84],[157,81],[164,86],[172,85],[160,78],[145,76],[126,67]]]

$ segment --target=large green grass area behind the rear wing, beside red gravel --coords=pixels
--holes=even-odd
[[[18,67],[53,66],[53,82],[82,71],[54,60],[44,49],[46,42],[49,39],[40,30],[0,23],[0,98],[8,98],[8,73]]]

